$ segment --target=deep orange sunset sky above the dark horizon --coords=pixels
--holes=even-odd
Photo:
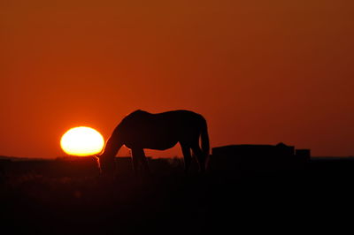
[[[348,0],[1,1],[0,155],[65,155],[136,109],[195,110],[212,147],[354,155],[353,42]]]

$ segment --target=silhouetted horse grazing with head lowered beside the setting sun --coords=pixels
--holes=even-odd
[[[199,137],[202,148],[199,147]],[[103,153],[97,157],[101,171],[114,171],[114,157],[119,148],[125,145],[132,150],[135,172],[139,171],[139,165],[149,172],[143,149],[165,150],[173,148],[178,142],[184,156],[185,171],[189,171],[192,149],[199,163],[199,171],[204,172],[210,148],[207,125],[203,116],[189,110],[158,114],[143,110],[132,112],[117,125],[107,140]]]

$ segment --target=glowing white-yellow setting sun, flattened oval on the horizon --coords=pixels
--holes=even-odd
[[[104,148],[104,137],[93,128],[74,127],[62,136],[60,146],[68,155],[95,155]]]

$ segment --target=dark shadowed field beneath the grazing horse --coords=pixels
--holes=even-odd
[[[2,234],[340,233],[353,230],[354,161],[245,166],[183,174],[181,159],[150,160],[135,177],[120,159],[100,177],[91,158],[1,165]],[[233,170],[234,169],[234,170]],[[257,168],[259,169],[259,168]]]

